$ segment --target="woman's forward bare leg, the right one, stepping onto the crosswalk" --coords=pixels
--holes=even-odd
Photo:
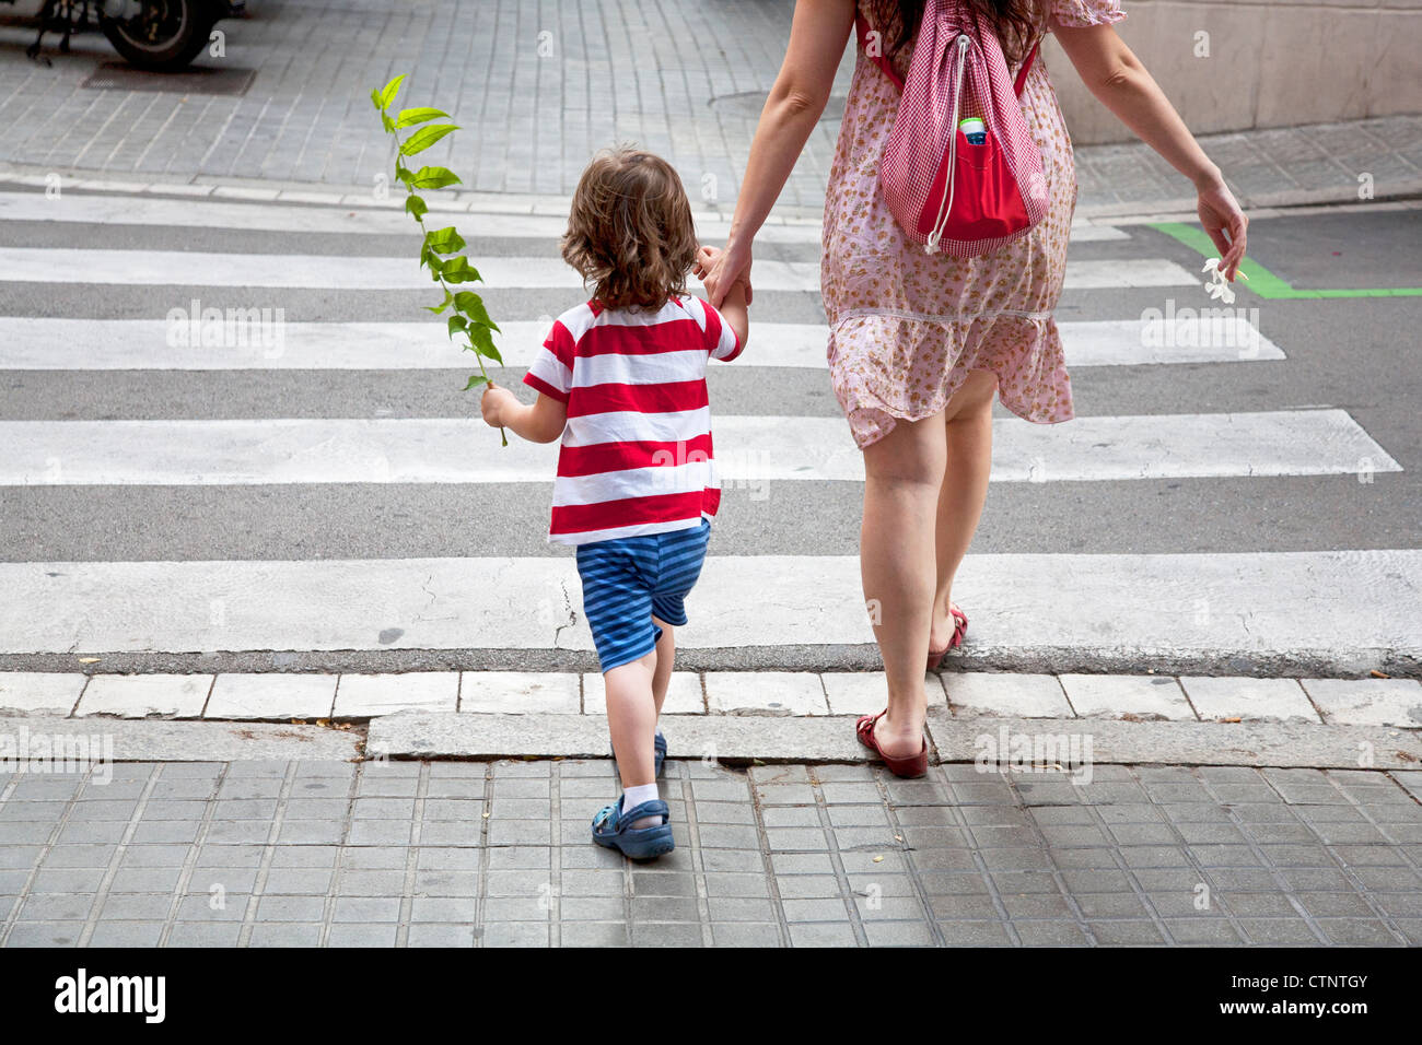
[[[953,640],[953,617],[948,600],[953,577],[963,556],[973,543],[987,481],[993,471],[993,397],[997,374],[987,370],[968,371],[967,380],[948,400],[943,411],[947,428],[947,466],[939,492],[936,535],[937,591],[933,599],[933,630],[930,650],[944,650]]]

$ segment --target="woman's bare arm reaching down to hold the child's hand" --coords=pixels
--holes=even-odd
[[[835,71],[853,26],[855,0],[799,0],[795,4],[791,43],[755,127],[725,252],[705,279],[707,297],[717,307],[737,277],[749,276],[751,240],[775,206],[829,104]]]

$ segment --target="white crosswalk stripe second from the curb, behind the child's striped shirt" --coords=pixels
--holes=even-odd
[[[993,424],[997,482],[1401,471],[1341,409]],[[717,418],[715,441],[728,483],[865,478],[840,418],[732,414]],[[489,442],[476,418],[0,421],[0,485],[552,481],[556,445]]]

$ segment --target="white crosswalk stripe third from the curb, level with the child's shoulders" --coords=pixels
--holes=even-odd
[[[164,320],[0,317],[0,370],[444,370],[472,367],[437,323],[290,323],[225,310],[203,327],[202,303]],[[193,333],[191,317],[198,316]],[[509,367],[528,367],[549,323],[509,320],[495,343]],[[1066,365],[1249,363],[1284,353],[1249,316],[1058,321]],[[737,367],[825,368],[829,327],[759,323]]]

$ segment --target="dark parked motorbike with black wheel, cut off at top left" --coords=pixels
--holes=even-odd
[[[220,18],[240,16],[245,0],[0,0],[30,9],[40,33],[26,54],[40,54],[46,33],[60,34],[60,53],[70,50],[70,37],[98,28],[114,50],[131,65],[172,73],[185,68],[208,45],[209,33]],[[37,9],[37,10],[36,10]]]

